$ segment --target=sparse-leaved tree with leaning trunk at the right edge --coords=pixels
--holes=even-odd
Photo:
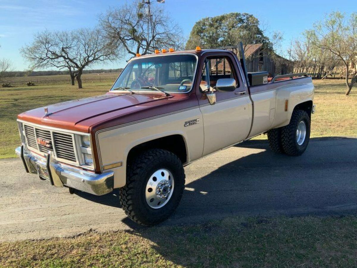
[[[314,46],[329,51],[343,63],[346,95],[350,94],[357,80],[357,13],[352,13],[347,18],[346,14],[333,12],[323,21],[314,24],[313,29],[306,31],[305,35]]]

